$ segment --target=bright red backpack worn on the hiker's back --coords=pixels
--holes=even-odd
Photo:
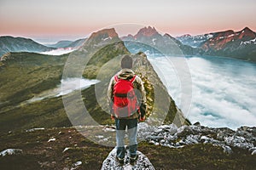
[[[136,76],[131,79],[119,79],[114,77],[113,86],[113,113],[117,117],[128,117],[133,115],[139,108],[137,96],[133,88]]]

